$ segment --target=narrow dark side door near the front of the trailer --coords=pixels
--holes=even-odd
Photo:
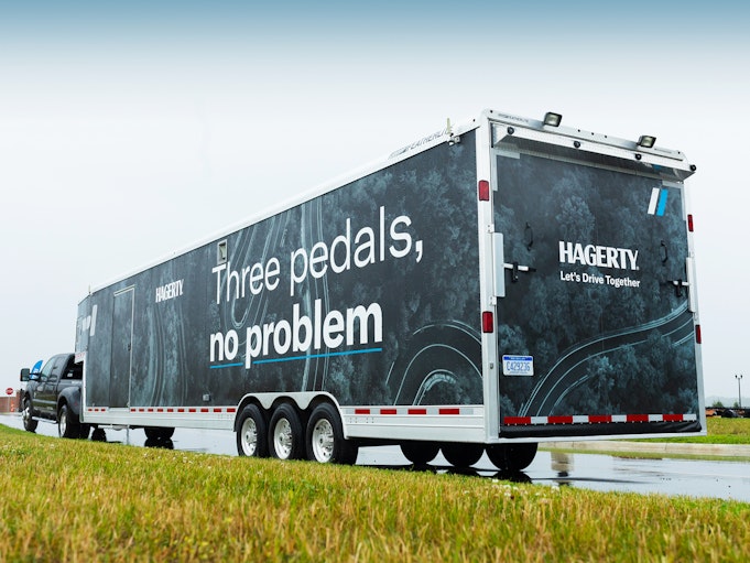
[[[129,407],[133,342],[134,288],[115,293],[112,311],[112,355],[109,370],[109,407]]]

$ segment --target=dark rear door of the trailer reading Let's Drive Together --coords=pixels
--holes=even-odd
[[[682,421],[699,408],[684,171],[568,144],[494,142],[500,433]]]

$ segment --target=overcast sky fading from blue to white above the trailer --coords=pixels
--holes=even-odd
[[[750,397],[750,6],[12,3],[0,389],[73,350],[89,286],[492,108],[654,134],[697,165],[705,390],[737,398],[743,373]]]

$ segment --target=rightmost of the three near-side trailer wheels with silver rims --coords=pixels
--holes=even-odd
[[[307,422],[307,459],[319,463],[354,465],[357,446],[344,437],[338,411],[330,403],[320,403]]]

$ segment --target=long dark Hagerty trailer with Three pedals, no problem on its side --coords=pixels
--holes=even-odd
[[[486,110],[89,291],[80,422],[415,464],[705,433],[684,154]]]

